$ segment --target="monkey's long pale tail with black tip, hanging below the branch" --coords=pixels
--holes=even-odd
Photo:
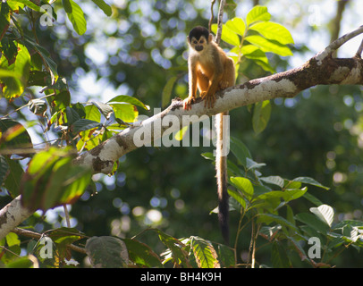
[[[229,203],[228,203],[228,191],[227,191],[227,157],[226,146],[227,139],[224,138],[226,132],[224,132],[224,115],[228,115],[228,112],[215,115],[215,130],[216,130],[216,154],[215,154],[215,177],[217,181],[218,189],[218,220],[221,227],[224,241],[229,245]]]

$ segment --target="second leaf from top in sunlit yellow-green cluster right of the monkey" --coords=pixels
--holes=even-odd
[[[258,22],[249,27],[249,29],[256,30],[265,38],[273,39],[283,45],[293,44],[289,30],[278,23],[272,21]]]

